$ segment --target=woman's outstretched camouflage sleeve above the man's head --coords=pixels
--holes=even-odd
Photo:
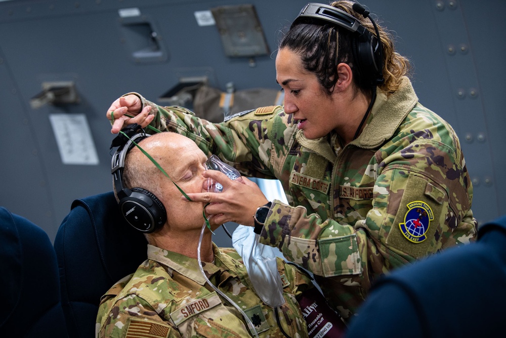
[[[173,131],[192,139],[207,156],[222,161],[249,177],[273,178],[275,166],[286,155],[284,137],[293,134],[291,117],[281,106],[239,112],[227,122],[211,123],[190,110],[158,106],[138,93],[143,106],[150,105],[156,118],[152,125],[161,131]]]

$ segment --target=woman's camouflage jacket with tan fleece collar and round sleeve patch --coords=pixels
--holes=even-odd
[[[407,78],[388,97],[377,91],[362,134],[344,147],[333,132],[305,138],[281,106],[211,124],[140,97],[157,128],[188,136],[246,176],[281,181],[289,205],[274,201],[262,241],[313,272],[344,318],[378,276],[476,237],[458,138],[418,103]]]

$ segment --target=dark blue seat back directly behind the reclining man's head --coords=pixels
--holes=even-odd
[[[147,258],[146,239],[109,192],[73,201],[54,247],[69,336],[93,337],[100,297]]]

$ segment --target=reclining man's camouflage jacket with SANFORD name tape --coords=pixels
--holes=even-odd
[[[239,254],[232,248],[213,248],[214,264],[203,267],[209,281],[251,318],[259,337],[283,337],[273,308],[252,291]],[[313,284],[281,258],[278,268],[286,300],[279,311],[282,328],[291,337],[307,337],[296,297]],[[241,313],[207,285],[196,259],[152,245],[137,271],[102,297],[97,315],[98,337],[137,336],[136,332],[150,337],[249,337],[246,327]]]

